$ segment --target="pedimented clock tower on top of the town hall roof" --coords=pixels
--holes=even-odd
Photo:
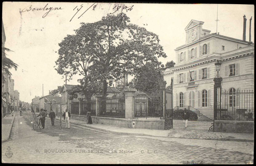
[[[186,31],[186,44],[193,43],[210,34],[210,30],[203,29],[203,21],[191,20],[187,27],[185,28]]]

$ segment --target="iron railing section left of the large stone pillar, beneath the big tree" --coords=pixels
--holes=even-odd
[[[99,116],[125,118],[125,96],[114,95],[111,98],[99,100]]]

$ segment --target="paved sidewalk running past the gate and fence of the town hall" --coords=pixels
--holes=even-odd
[[[49,118],[49,117],[48,117]],[[56,120],[59,120],[56,118]],[[208,139],[222,141],[239,141],[254,142],[254,134],[249,133],[228,133],[228,132],[208,132],[212,126],[212,121],[188,121],[188,128],[182,120],[173,120],[173,128],[170,130],[152,130],[152,129],[130,129],[106,124],[86,124],[86,121],[70,119],[71,124],[96,129],[100,131],[110,132],[121,135],[137,135],[137,136],[154,136],[154,137],[171,137],[186,139]],[[56,123],[56,126],[58,124]],[[65,127],[65,122],[63,124]]]

